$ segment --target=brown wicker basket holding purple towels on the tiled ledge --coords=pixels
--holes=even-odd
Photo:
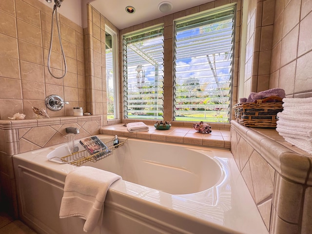
[[[280,102],[267,102],[276,99]],[[237,103],[233,106],[235,119],[241,125],[254,128],[276,128],[276,115],[283,111],[282,98],[277,96]]]

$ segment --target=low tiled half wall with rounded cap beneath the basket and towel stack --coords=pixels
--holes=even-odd
[[[231,151],[270,234],[310,234],[310,154],[274,129],[231,121]]]

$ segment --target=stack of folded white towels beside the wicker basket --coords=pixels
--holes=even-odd
[[[312,154],[312,98],[283,98],[276,131],[299,149]]]

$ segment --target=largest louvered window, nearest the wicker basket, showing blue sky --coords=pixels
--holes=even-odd
[[[175,23],[174,119],[229,122],[234,7]]]

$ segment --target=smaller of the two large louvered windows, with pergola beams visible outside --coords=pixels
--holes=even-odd
[[[163,28],[123,36],[125,118],[163,118]]]

